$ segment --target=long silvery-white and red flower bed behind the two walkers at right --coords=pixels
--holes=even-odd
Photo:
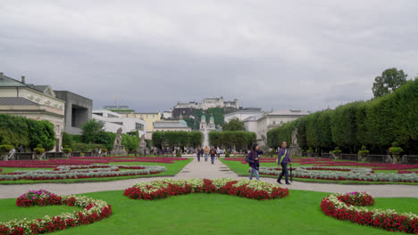
[[[299,166],[293,171],[293,177],[332,181],[363,181],[363,182],[418,182],[418,175],[412,174],[382,174],[374,173],[370,168],[341,168],[347,171],[335,171],[336,167],[322,166],[322,170],[311,170],[312,167]],[[279,175],[276,167],[260,167],[260,174]]]

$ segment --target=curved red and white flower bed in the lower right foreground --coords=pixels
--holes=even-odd
[[[351,221],[362,225],[369,225],[387,231],[404,231],[418,233],[418,215],[412,213],[397,213],[395,210],[372,209],[374,199],[367,193],[331,194],[322,199],[321,209],[325,215],[338,220]]]

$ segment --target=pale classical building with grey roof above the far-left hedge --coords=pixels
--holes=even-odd
[[[0,73],[0,113],[22,116],[34,120],[47,120],[54,125],[57,139],[53,151],[63,143],[65,101],[55,96],[49,85],[26,84]]]

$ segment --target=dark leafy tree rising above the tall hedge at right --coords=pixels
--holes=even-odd
[[[404,70],[397,68],[386,69],[381,73],[381,76],[374,78],[372,92],[374,97],[381,97],[388,93],[392,93],[401,85],[406,83],[406,77],[408,75],[404,73]]]

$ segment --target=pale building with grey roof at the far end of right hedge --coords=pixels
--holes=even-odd
[[[244,126],[247,131],[257,134],[257,142],[261,145],[267,144],[267,132],[272,128],[282,126],[287,122],[308,115],[309,112],[300,109],[275,110],[264,113],[262,116],[246,118]]]

